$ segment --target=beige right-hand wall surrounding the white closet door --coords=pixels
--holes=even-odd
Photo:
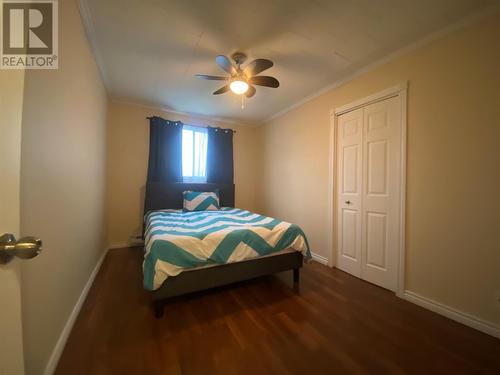
[[[497,13],[260,127],[260,209],[329,257],[329,112],[409,81],[406,288],[500,324],[499,40]]]

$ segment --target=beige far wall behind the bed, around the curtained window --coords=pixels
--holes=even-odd
[[[234,180],[236,205],[255,209],[256,171],[255,128],[246,125],[207,121],[149,107],[125,103],[109,104],[108,120],[108,245],[124,244],[140,235],[149,153],[148,116],[180,120],[186,124],[221,126],[234,135]]]

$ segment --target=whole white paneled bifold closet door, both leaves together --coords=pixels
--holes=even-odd
[[[396,290],[400,226],[401,102],[338,118],[337,267]]]

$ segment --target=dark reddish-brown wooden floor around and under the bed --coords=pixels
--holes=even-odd
[[[56,374],[500,374],[500,340],[318,263],[182,297],[155,319],[141,249],[111,250]]]

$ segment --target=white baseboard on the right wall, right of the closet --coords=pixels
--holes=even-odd
[[[492,322],[480,319],[463,311],[454,309],[453,307],[446,306],[430,298],[423,297],[414,292],[410,292],[409,290],[405,290],[403,298],[427,310],[431,310],[439,315],[443,315],[447,318],[465,324],[466,326],[477,329],[478,331],[484,332],[488,335],[500,338],[500,326]]]

